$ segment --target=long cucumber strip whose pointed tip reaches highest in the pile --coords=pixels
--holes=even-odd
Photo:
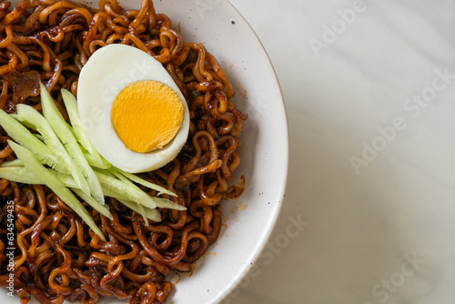
[[[92,167],[88,165],[86,157],[84,157],[84,154],[77,144],[76,138],[71,131],[71,127],[66,124],[64,117],[56,107],[54,99],[52,99],[52,96],[49,94],[45,86],[42,83],[39,85],[41,87],[41,106],[43,106],[43,114],[45,118],[56,132],[56,136],[60,138],[66,147],[68,153],[75,160],[76,165],[82,170],[82,173],[86,177],[88,187],[90,188],[90,194],[96,199],[97,202],[104,205],[105,197],[103,195],[101,185],[96,178],[95,172]]]

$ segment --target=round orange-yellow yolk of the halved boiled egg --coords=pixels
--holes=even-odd
[[[130,150],[147,153],[164,147],[182,125],[183,105],[177,93],[154,80],[126,86],[112,106],[112,123]]]

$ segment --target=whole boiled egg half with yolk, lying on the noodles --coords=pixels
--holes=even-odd
[[[165,166],[187,142],[187,102],[167,70],[133,46],[98,49],[82,68],[77,103],[87,137],[126,172]]]

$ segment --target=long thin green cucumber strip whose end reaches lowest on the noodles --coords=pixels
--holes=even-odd
[[[36,177],[43,179],[45,185],[49,187],[56,195],[61,198],[69,208],[72,208],[76,214],[81,217],[89,228],[102,240],[106,240],[101,230],[96,226],[93,218],[90,217],[86,208],[75,197],[75,195],[54,175],[49,173],[47,169],[39,162],[31,151],[25,147],[17,145],[15,142],[8,140],[8,144],[15,151],[17,158],[24,162],[27,167]]]

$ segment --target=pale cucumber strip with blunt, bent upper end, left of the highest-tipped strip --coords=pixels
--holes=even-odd
[[[68,154],[66,148],[60,142],[56,133],[49,125],[45,117],[43,117],[35,108],[26,105],[17,105],[17,116],[19,121],[25,125],[39,132],[43,137],[45,144],[49,147],[62,164],[68,169],[71,176],[75,178],[77,187],[80,188],[87,196],[90,195],[90,189],[86,182],[86,178],[80,170],[76,167],[73,158]]]

